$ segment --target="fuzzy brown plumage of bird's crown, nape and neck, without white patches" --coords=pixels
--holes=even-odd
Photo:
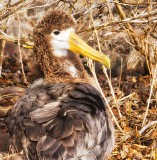
[[[75,27],[74,19],[70,15],[63,14],[62,11],[58,10],[57,12],[52,11],[45,16],[34,29],[34,53],[36,53],[37,61],[44,72],[45,78],[52,82],[87,82],[88,75],[77,54],[69,52],[66,59],[64,57],[58,58],[52,54],[53,48],[50,44],[50,33],[53,30],[60,31],[71,27]],[[71,77],[71,75],[66,72],[63,61],[70,61],[73,63],[78,69],[79,78],[81,79],[74,79]]]

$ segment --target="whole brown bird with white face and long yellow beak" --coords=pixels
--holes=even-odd
[[[74,18],[52,10],[36,24],[33,54],[44,77],[35,80],[12,108],[12,150],[26,160],[104,160],[114,147],[106,103],[79,54],[110,67],[109,58],[75,33]]]

